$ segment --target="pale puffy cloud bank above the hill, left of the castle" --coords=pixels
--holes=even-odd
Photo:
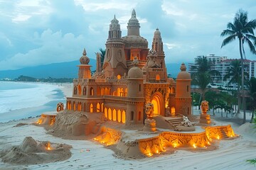
[[[36,38],[38,39],[38,37]],[[85,41],[85,38],[82,35],[75,37],[72,33],[63,35],[61,31],[53,33],[52,30],[48,29],[43,31],[38,41],[41,42],[41,47],[2,60],[0,68],[2,70],[18,69],[40,64],[79,60],[82,56],[82,42]]]

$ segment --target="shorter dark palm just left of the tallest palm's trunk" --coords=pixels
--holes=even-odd
[[[234,60],[230,63],[230,67],[228,69],[228,74],[225,74],[223,77],[223,80],[227,80],[231,77],[230,81],[228,81],[228,84],[237,83],[238,84],[238,113],[240,113],[240,86],[241,86],[241,67],[240,67],[241,61],[240,60]]]

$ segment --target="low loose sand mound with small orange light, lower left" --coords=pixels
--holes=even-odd
[[[0,152],[3,162],[10,164],[42,164],[63,161],[71,157],[70,145],[37,142],[25,137],[21,145]]]

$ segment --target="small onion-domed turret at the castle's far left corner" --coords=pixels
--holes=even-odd
[[[78,71],[78,79],[90,79],[91,78],[91,72],[90,72],[90,59],[86,56],[86,50],[84,48],[82,52],[82,57],[80,57],[80,65],[79,71]]]

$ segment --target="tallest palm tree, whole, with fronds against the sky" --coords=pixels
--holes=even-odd
[[[220,34],[221,36],[228,35],[227,38],[223,40],[221,47],[233,42],[236,38],[239,41],[239,52],[241,58],[242,65],[242,108],[243,108],[243,123],[245,123],[245,91],[244,91],[244,43],[250,47],[250,51],[253,54],[256,54],[255,45],[256,45],[256,37],[254,35],[254,29],[256,28],[256,19],[248,21],[247,11],[243,11],[240,9],[237,13],[235,13],[235,18],[233,23],[229,22],[227,25],[227,29],[223,30]],[[243,53],[243,54],[242,54]]]

